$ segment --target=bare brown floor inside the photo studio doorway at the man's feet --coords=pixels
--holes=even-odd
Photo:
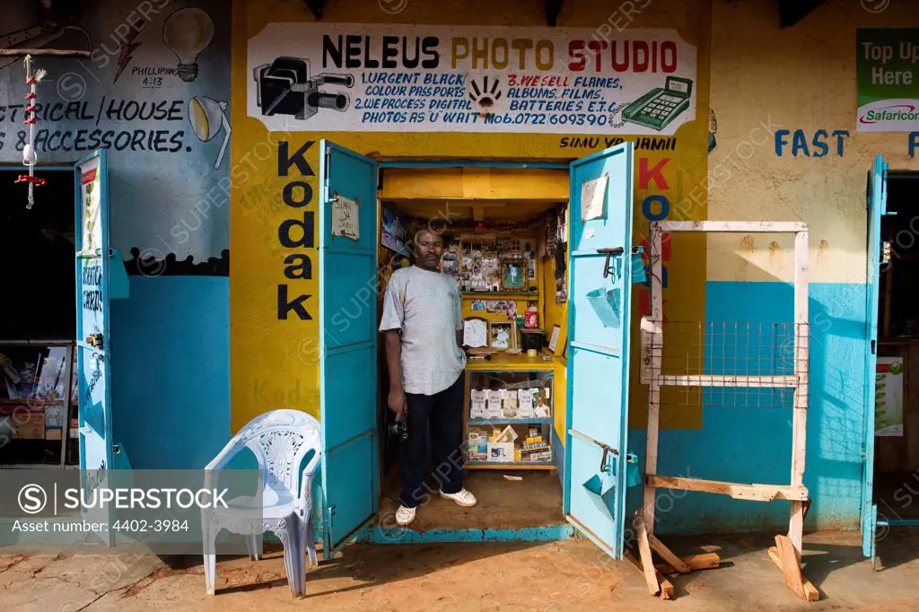
[[[523,480],[507,481],[505,474],[521,476]],[[412,529],[522,529],[565,522],[562,484],[554,471],[467,470],[463,485],[475,493],[478,500],[475,507],[463,508],[441,499],[437,495],[437,482],[430,482],[427,489],[430,493],[426,493],[430,495],[430,502],[418,508]],[[380,516],[394,515],[397,509],[399,479],[393,474],[383,487]]]

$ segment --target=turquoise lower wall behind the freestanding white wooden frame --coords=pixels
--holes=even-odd
[[[709,282],[708,322],[789,323],[792,286],[772,282]],[[865,287],[812,283],[811,390],[804,484],[812,504],[806,528],[857,528],[861,494],[865,397]],[[717,350],[717,349],[716,349]],[[717,402],[723,403],[723,402]],[[645,432],[630,431],[644,460]],[[659,473],[729,482],[788,484],[791,408],[703,404],[702,428],[663,430]],[[632,511],[641,503],[630,490]],[[746,502],[682,491],[658,493],[661,533],[772,531],[788,527],[788,502]]]

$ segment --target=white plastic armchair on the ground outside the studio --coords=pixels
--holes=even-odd
[[[275,410],[255,417],[205,468],[206,488],[210,487],[210,470],[225,468],[243,448],[249,448],[258,460],[264,483],[262,494],[233,498],[226,503],[227,508],[202,510],[204,581],[208,595],[214,595],[217,577],[214,546],[221,529],[244,535],[249,558],[254,561],[259,559],[262,534],[275,533],[284,545],[290,593],[294,597],[305,595],[305,553],[309,552],[312,565],[318,563],[312,532],[311,492],[312,476],[323,453],[322,429],[315,418],[299,410]],[[314,454],[298,478],[301,461],[311,450]]]

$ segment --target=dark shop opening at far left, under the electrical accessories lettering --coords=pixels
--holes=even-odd
[[[79,466],[74,278],[74,172],[17,183],[23,166],[0,172],[0,467]]]

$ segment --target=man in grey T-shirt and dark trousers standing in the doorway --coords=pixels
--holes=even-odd
[[[405,419],[408,430],[399,449],[399,525],[414,521],[424,495],[428,425],[440,496],[467,507],[476,503],[475,496],[463,488],[460,445],[466,354],[461,348],[459,288],[437,270],[443,249],[437,232],[417,232],[414,266],[392,274],[383,298],[380,332],[386,337],[390,370],[387,403],[397,421]]]

